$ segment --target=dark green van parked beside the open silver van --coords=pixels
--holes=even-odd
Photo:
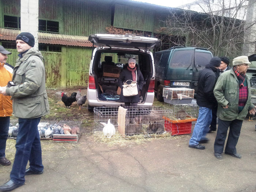
[[[155,87],[158,101],[163,101],[163,87],[187,87],[197,91],[199,71],[212,58],[204,48],[173,47],[155,53]]]

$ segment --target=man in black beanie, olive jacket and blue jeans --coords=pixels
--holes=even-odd
[[[25,183],[25,175],[42,174],[42,150],[38,123],[49,113],[45,90],[45,67],[41,52],[34,48],[31,33],[23,32],[16,37],[20,57],[14,67],[13,86],[3,87],[3,95],[11,95],[15,117],[19,118],[16,154],[10,180],[0,186],[0,191],[10,191]],[[26,169],[27,162],[30,167]]]

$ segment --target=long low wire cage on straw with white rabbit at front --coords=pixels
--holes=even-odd
[[[124,137],[161,134],[165,131],[163,117],[170,113],[172,113],[171,110],[157,106],[96,107],[94,108],[94,133],[102,137],[108,136],[108,138],[117,132]],[[114,133],[111,131],[113,127]]]

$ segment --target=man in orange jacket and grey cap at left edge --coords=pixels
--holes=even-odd
[[[7,85],[12,80],[11,72],[5,69],[7,54],[12,54],[0,45],[0,87]],[[10,116],[12,115],[12,101],[11,96],[4,96],[0,94],[0,164],[11,165],[11,161],[5,158],[5,146],[8,137]]]

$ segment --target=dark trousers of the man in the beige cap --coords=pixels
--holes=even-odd
[[[227,137],[227,129],[229,128],[229,136],[227,138],[225,151],[227,153],[235,154],[236,145],[238,138],[240,136],[240,131],[242,127],[242,120],[233,120],[233,121],[223,121],[219,119],[218,122],[218,131],[214,142],[214,152],[222,153],[224,149],[225,140]]]

